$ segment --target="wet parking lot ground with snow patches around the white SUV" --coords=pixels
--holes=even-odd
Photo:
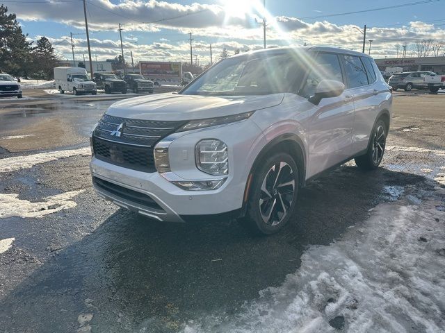
[[[262,238],[236,221],[159,223],[99,198],[88,133],[112,101],[0,105],[2,332],[277,332],[286,325],[301,332],[302,308],[318,332],[342,321],[389,325],[389,316],[398,332],[439,332],[443,99],[395,95],[382,167],[364,173],[349,162],[312,182],[289,228]],[[433,224],[416,229],[422,219]],[[382,221],[403,231],[381,237]],[[364,255],[354,250],[361,246]],[[434,260],[419,255],[430,252]],[[423,262],[423,273],[436,272],[433,287],[430,273],[403,273],[417,265],[394,262],[405,255]],[[373,268],[387,280],[376,283]]]

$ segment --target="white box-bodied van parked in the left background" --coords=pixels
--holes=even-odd
[[[97,94],[97,87],[81,67],[54,67],[54,83],[60,94],[65,91],[74,95]]]

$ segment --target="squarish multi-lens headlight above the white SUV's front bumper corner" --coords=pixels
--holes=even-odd
[[[195,148],[197,168],[215,176],[229,172],[227,145],[217,139],[206,139],[197,143]]]

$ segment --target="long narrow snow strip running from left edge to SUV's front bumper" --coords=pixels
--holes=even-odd
[[[90,147],[67,149],[65,151],[49,151],[47,153],[38,153],[28,156],[8,157],[0,160],[0,173],[27,169],[35,164],[51,162],[60,158],[71,157],[76,155],[91,155]]]

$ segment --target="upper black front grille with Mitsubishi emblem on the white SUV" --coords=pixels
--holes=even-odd
[[[92,137],[95,157],[128,169],[154,172],[154,146],[183,124],[184,121],[149,121],[104,114]]]

